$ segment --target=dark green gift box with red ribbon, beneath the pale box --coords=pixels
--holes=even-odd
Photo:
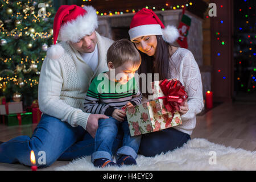
[[[28,125],[32,123],[32,113],[18,113],[18,114],[6,114],[5,125]]]

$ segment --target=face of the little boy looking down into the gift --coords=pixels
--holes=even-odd
[[[120,84],[126,84],[131,78],[134,77],[135,72],[139,69],[140,65],[134,65],[130,62],[122,64],[121,66],[114,68],[113,63],[110,61],[108,67],[110,72],[114,72],[115,78],[110,80],[119,82]]]

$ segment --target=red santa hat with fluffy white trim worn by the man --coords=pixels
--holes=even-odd
[[[59,59],[64,53],[63,47],[56,44],[57,39],[78,42],[90,35],[98,27],[97,13],[92,6],[62,5],[53,22],[53,45],[47,50],[51,59]]]

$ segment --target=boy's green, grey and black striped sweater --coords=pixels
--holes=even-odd
[[[122,85],[109,80],[104,73],[101,73],[90,84],[84,110],[86,113],[112,116],[115,109],[121,109],[127,102],[139,105],[141,100],[142,94],[135,78]]]

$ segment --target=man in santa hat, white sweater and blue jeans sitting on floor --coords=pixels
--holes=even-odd
[[[55,45],[47,51],[39,78],[42,118],[31,138],[20,136],[0,145],[0,162],[31,166],[31,150],[39,167],[92,154],[98,119],[109,117],[85,113],[83,102],[90,81],[108,71],[106,53],[113,43],[95,31],[97,26],[91,6],[59,8],[53,23]]]

